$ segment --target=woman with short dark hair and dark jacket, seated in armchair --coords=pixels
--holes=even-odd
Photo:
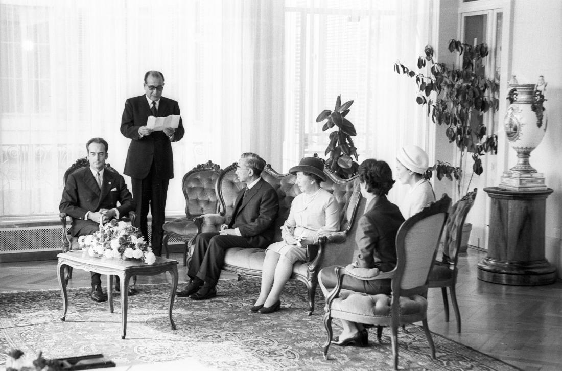
[[[366,198],[365,214],[359,218],[355,236],[359,250],[357,261],[348,265],[346,269],[365,273],[369,269],[377,268],[380,272],[389,272],[396,266],[396,233],[404,222],[398,206],[386,197],[394,184],[392,170],[384,161],[365,160],[359,166],[359,180],[361,194]],[[324,296],[328,296],[329,291],[336,287],[334,268],[324,268],[318,275]],[[342,288],[369,295],[388,295],[391,293],[391,279],[364,280],[345,275]],[[333,344],[368,345],[368,333],[362,324],[342,320],[342,325],[343,332],[332,340]]]

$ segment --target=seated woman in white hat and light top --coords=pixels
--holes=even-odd
[[[396,179],[410,186],[406,197],[399,203],[400,212],[405,219],[418,214],[430,203],[435,202],[435,193],[431,184],[423,178],[428,168],[428,157],[422,148],[410,144],[398,151],[396,156]]]

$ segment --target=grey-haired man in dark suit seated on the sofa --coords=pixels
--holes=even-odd
[[[236,175],[246,183],[234,203],[232,220],[221,225],[220,233],[201,233],[195,239],[193,257],[189,265],[187,288],[178,296],[193,300],[216,296],[216,283],[229,247],[266,248],[273,242],[273,224],[279,211],[277,192],[260,177],[265,161],[255,153],[243,153]]]

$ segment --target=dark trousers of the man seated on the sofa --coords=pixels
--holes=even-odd
[[[201,233],[195,239],[193,257],[187,275],[209,284],[216,284],[224,265],[224,254],[229,247],[253,247],[246,237],[229,236],[216,232]]]

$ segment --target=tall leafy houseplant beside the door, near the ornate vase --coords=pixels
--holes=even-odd
[[[471,46],[459,40],[451,39],[449,51],[456,52],[461,58],[462,66],[448,66],[433,60],[433,47],[426,46],[424,56],[418,57],[418,70],[430,65],[426,74],[405,67],[397,62],[394,66],[398,74],[405,74],[415,79],[418,85],[418,105],[427,105],[427,115],[434,123],[445,125],[445,135],[449,143],[455,143],[459,151],[459,162],[456,166],[449,162],[437,161],[430,166],[425,178],[430,178],[433,172],[437,179],[443,177],[460,180],[462,177],[463,161],[468,153],[472,153],[472,174],[483,172],[480,156],[486,153],[497,153],[497,135],[488,134],[483,120],[475,120],[488,111],[496,112],[499,107],[499,85],[495,80],[483,75],[482,60],[488,55],[486,43]],[[436,99],[429,98],[435,92]],[[472,179],[472,175],[470,177]],[[466,189],[470,189],[470,182]],[[457,191],[461,193],[461,182],[457,182]]]

